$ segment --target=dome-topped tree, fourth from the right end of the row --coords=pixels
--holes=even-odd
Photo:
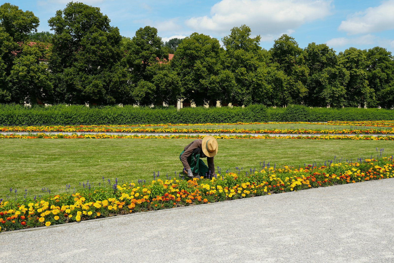
[[[305,65],[303,50],[298,47],[294,37],[284,34],[275,40],[269,52],[271,53],[271,63],[288,76],[282,104],[303,103],[303,98],[308,93],[306,84],[309,74],[309,68]]]

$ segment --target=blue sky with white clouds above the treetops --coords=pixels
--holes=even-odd
[[[49,31],[48,19],[64,9],[67,0],[11,0],[39,17],[39,31]],[[85,0],[100,7],[121,35],[154,26],[168,40],[193,32],[221,39],[234,26],[246,24],[260,45],[269,49],[282,34],[299,47],[326,43],[337,52],[349,47],[380,46],[394,52],[394,0]]]

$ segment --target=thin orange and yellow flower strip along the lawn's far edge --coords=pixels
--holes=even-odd
[[[270,135],[213,135],[216,139],[304,139],[304,140],[394,140],[394,136],[392,135],[307,135],[307,136],[270,136]],[[37,133],[37,134],[9,134],[4,135],[0,134],[0,139],[202,139],[205,137],[205,134],[199,135],[113,135],[113,134],[72,134],[66,135],[62,133],[58,134],[46,134],[46,133]]]

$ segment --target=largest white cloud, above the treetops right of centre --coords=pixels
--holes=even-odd
[[[330,11],[331,0],[221,0],[211,8],[209,17],[192,17],[186,25],[197,32],[226,35],[234,26],[246,24],[253,34],[272,39],[305,22],[322,19]]]

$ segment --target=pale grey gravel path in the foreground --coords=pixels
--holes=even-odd
[[[394,179],[0,233],[0,262],[394,262]]]

